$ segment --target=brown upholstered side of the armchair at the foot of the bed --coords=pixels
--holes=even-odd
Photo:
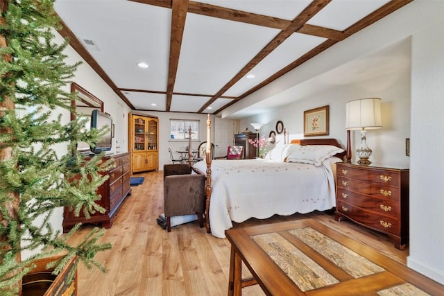
[[[205,176],[170,175],[164,178],[165,216],[204,213]]]

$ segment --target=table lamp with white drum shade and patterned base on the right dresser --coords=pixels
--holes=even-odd
[[[367,130],[382,128],[381,99],[361,98],[345,104],[345,130],[361,130],[361,146],[356,150],[358,164],[371,164],[372,150],[367,146]]]

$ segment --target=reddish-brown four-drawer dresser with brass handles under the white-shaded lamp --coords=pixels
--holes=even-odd
[[[404,250],[409,241],[409,168],[336,164],[334,218],[384,232]]]

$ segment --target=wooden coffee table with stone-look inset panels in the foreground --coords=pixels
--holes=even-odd
[[[228,295],[442,295],[444,286],[312,219],[229,229]],[[242,279],[244,262],[253,277]]]

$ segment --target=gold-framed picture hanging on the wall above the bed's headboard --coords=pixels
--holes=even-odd
[[[304,137],[327,136],[330,128],[329,105],[304,111]]]

